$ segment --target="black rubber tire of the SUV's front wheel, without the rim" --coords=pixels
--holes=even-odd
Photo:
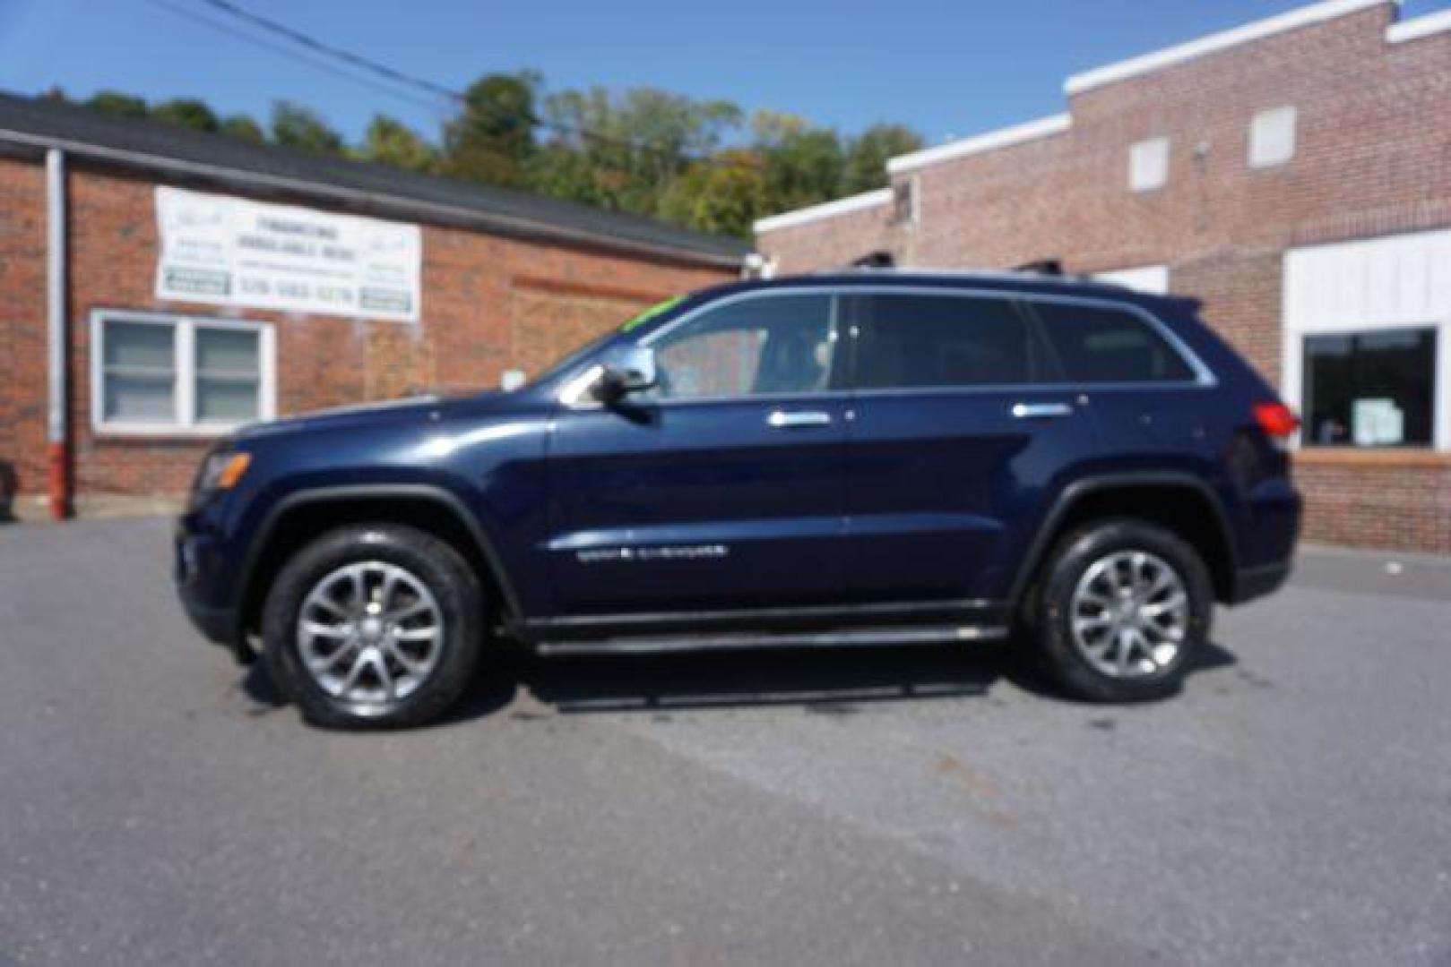
[[[392,703],[334,697],[303,667],[299,652],[297,616],[308,594],[338,568],[363,561],[408,571],[432,594],[443,616],[441,651],[432,670]],[[297,551],[268,590],[261,626],[263,657],[279,689],[312,725],[341,729],[414,728],[441,716],[473,681],[486,628],[483,593],[469,563],[438,538],[395,523],[340,528]]]

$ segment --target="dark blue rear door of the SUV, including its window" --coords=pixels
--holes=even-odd
[[[1085,407],[1036,384],[1042,346],[1010,302],[849,303],[862,386],[847,435],[847,594],[1003,597],[1043,494],[1091,455]]]

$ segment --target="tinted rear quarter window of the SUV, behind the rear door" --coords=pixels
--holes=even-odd
[[[1035,302],[1068,383],[1175,383],[1194,378],[1174,346],[1122,309]]]

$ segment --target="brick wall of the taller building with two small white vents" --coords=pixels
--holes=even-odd
[[[898,175],[917,181],[908,231],[884,207],[757,245],[791,271],[876,248],[926,267],[1170,265],[1174,291],[1203,297],[1209,322],[1277,380],[1286,249],[1451,226],[1451,32],[1387,43],[1393,16],[1386,3],[1084,91],[1064,133]],[[1249,122],[1281,106],[1299,112],[1296,155],[1252,170]],[[1168,184],[1136,194],[1129,148],[1161,135]],[[1309,536],[1451,552],[1451,455],[1407,470],[1348,460],[1302,474]]]

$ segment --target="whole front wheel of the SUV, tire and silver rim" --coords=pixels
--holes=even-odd
[[[342,528],[277,576],[263,612],[267,670],[315,725],[422,725],[469,686],[482,610],[477,578],[443,541],[400,525]]]

